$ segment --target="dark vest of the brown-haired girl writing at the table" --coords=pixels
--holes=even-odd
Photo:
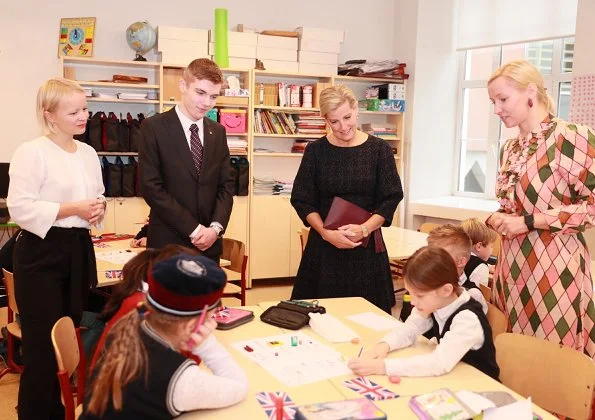
[[[481,303],[477,302],[475,299],[471,298],[468,302],[459,306],[444,323],[442,332],[439,331],[438,322],[436,321],[436,318],[434,318],[434,314],[432,314],[432,328],[428,330],[424,336],[427,338],[436,337],[440,343],[440,340],[450,330],[454,317],[462,311],[471,311],[477,316],[484,336],[483,345],[477,350],[469,350],[467,354],[463,356],[463,362],[470,364],[486,375],[499,380],[498,376],[500,375],[500,368],[496,363],[496,348],[494,347],[494,341],[492,339],[492,328],[490,327],[487,317],[483,313]]]

